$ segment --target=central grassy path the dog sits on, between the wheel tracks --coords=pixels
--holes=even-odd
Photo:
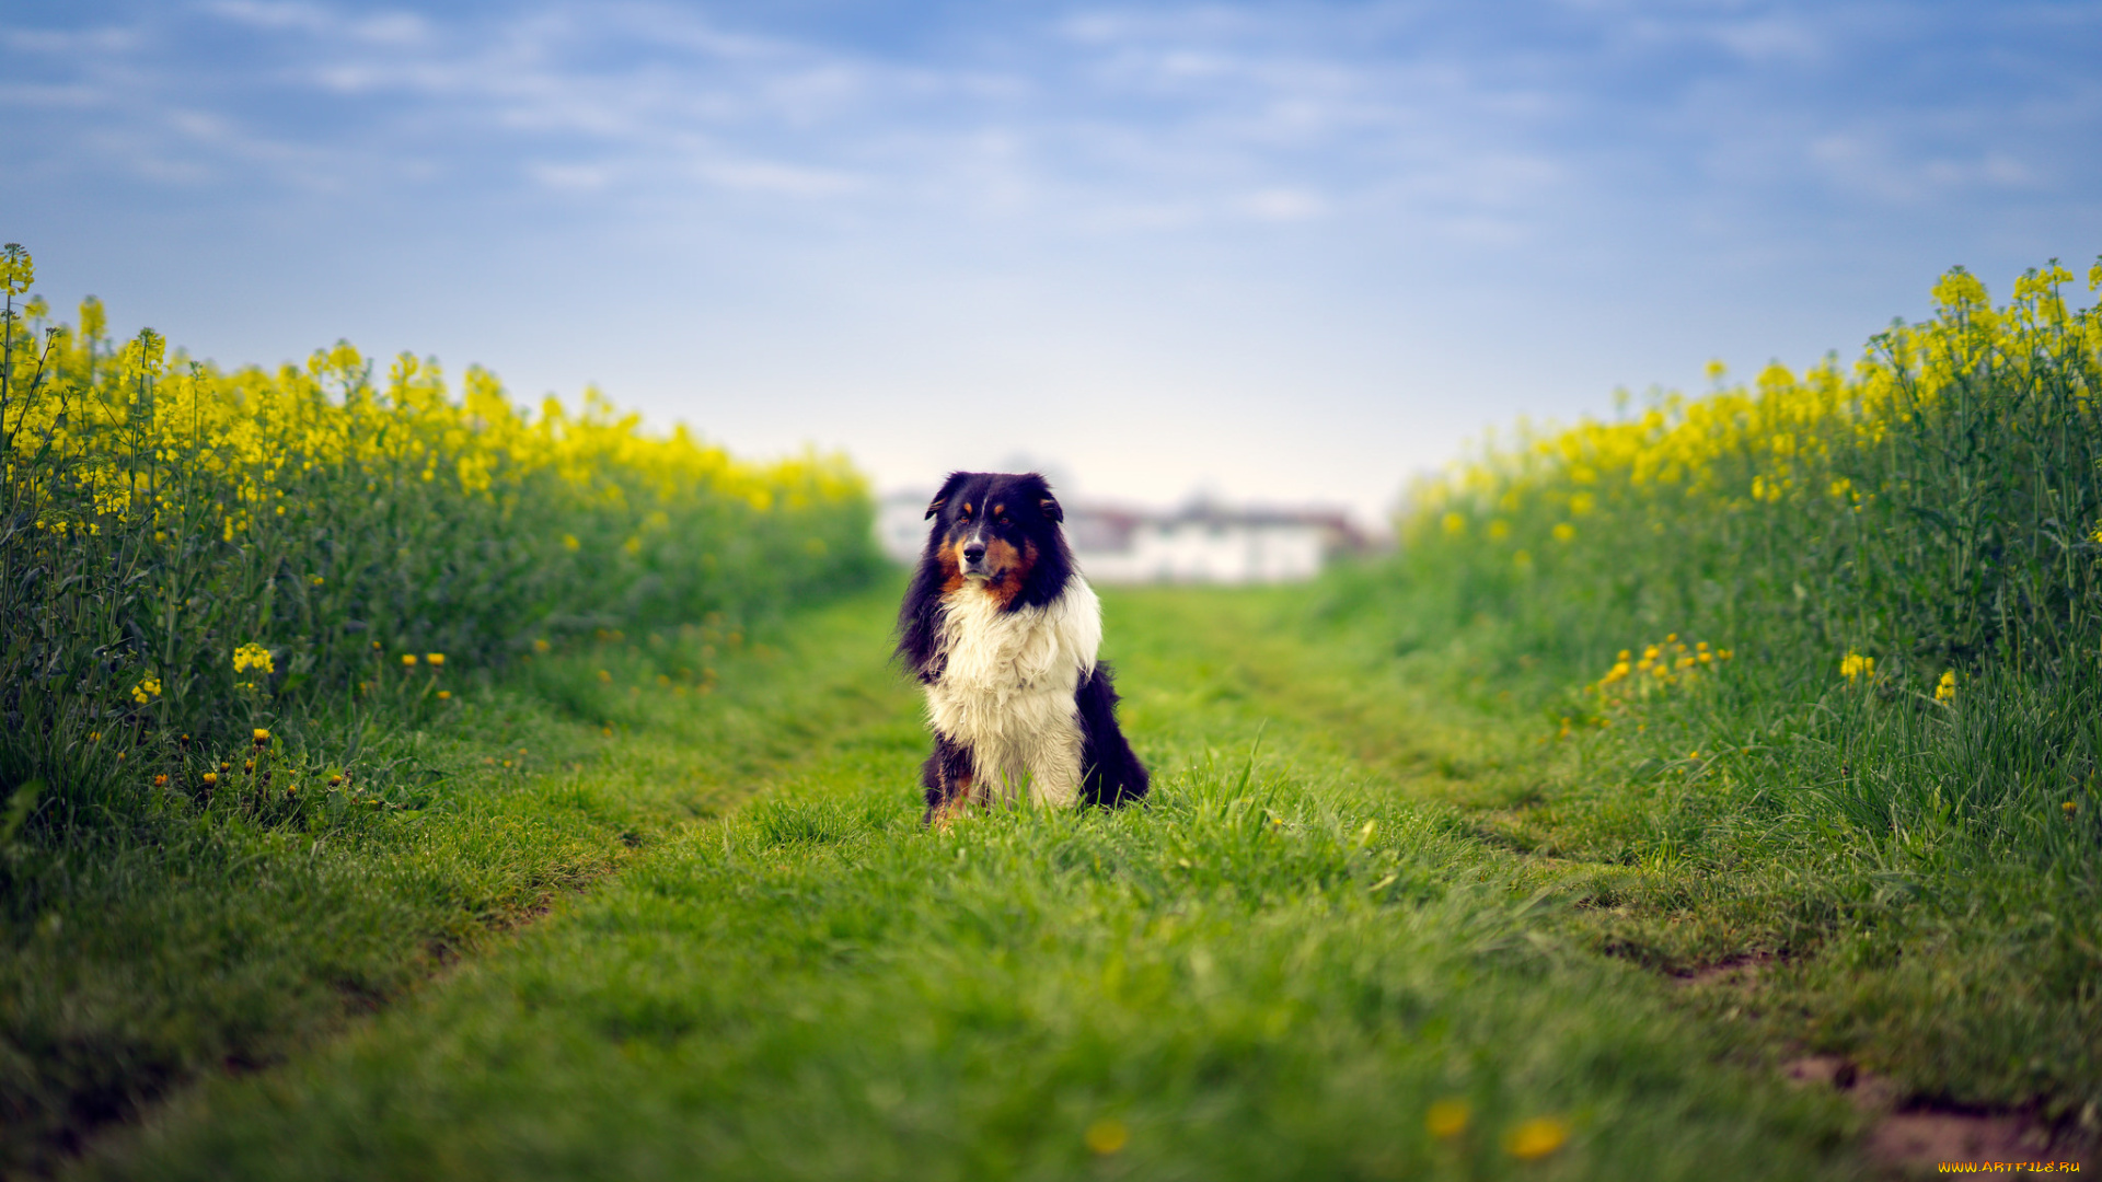
[[[1852,1117],[1581,951],[1492,709],[1368,684],[1282,599],[1108,597],[1152,808],[916,827],[887,604],[801,629],[727,816],[109,1178],[1820,1178]],[[633,719],[637,776],[677,705]],[[805,719],[801,726],[795,719]],[[687,736],[689,740],[689,736]]]

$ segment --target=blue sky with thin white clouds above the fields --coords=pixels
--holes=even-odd
[[[1953,263],[2083,273],[2098,63],[2091,0],[8,4],[0,236],[223,364],[1373,517]]]

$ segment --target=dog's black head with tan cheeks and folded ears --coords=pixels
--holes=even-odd
[[[1047,566],[1059,568],[1057,587],[1066,583],[1068,551],[1059,532],[1066,511],[1034,471],[952,471],[927,505],[927,517],[933,522],[927,557],[942,566],[948,589],[982,583],[1011,602],[1045,583],[1043,576],[1053,574]]]

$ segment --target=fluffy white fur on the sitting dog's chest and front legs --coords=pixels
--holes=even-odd
[[[973,757],[971,797],[1036,806],[1080,799],[1080,711],[1074,690],[1095,671],[1101,602],[1078,574],[1043,608],[1003,612],[982,580],[942,597],[935,650],[948,658],[927,686],[927,719]]]

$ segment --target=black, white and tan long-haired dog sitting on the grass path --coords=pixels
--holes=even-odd
[[[1146,766],[1116,726],[1101,602],[1066,545],[1066,511],[1030,473],[952,471],[898,612],[898,658],[927,692],[923,824],[971,806],[1122,806]]]

